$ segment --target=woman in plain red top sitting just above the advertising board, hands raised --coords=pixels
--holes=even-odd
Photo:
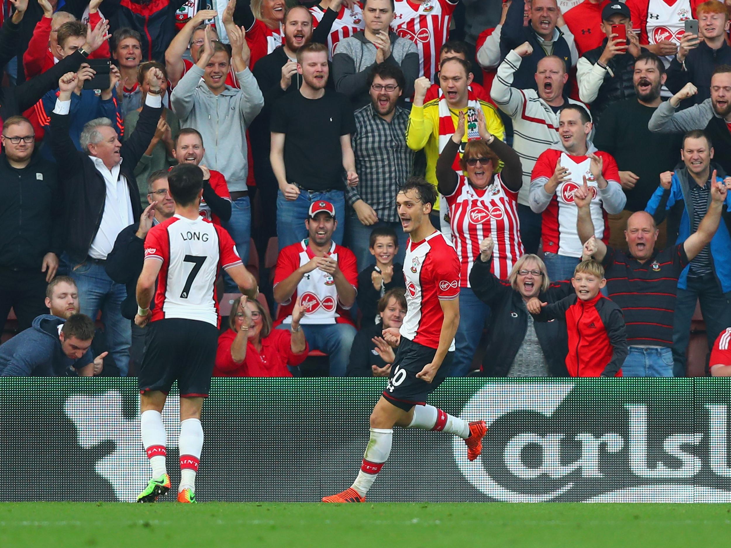
[[[307,341],[300,327],[305,315],[300,303],[292,311],[289,330],[273,330],[269,313],[257,300],[239,297],[229,316],[230,330],[219,337],[214,377],[291,377],[287,365],[307,357]]]

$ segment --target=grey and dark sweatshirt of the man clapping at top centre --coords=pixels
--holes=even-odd
[[[389,32],[391,39],[391,55],[384,61],[401,67],[406,79],[406,88],[401,99],[412,96],[414,80],[419,77],[419,52],[409,39],[399,38],[395,32]],[[353,107],[360,108],[371,102],[368,94],[368,74],[376,64],[376,46],[368,39],[364,31],[358,31],[352,37],[338,42],[333,56],[333,76],[335,90],[345,94]]]

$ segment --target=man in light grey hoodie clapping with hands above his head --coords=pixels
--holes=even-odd
[[[205,44],[198,62],[175,86],[170,100],[181,128],[197,129],[207,148],[202,163],[223,173],[231,194],[231,218],[224,223],[236,243],[243,264],[249,260],[251,237],[251,205],[246,187],[249,163],[246,158],[246,128],[264,106],[264,97],[256,78],[249,70],[251,51],[246,46],[243,31],[232,26],[228,33],[232,54],[221,42],[213,42],[211,32],[205,33]],[[235,30],[233,30],[235,29]],[[231,61],[237,67],[236,80],[240,89],[226,85]],[[226,281],[227,289],[235,291],[235,283]]]

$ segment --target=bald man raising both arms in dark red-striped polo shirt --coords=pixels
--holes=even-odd
[[[584,188],[575,192],[577,231],[584,242],[584,255],[593,255],[602,262],[609,297],[624,313],[629,355],[622,365],[623,376],[673,376],[671,347],[678,278],[683,268],[711,242],[719,227],[725,197],[726,187],[713,184],[711,205],[697,231],[678,246],[662,251],[655,249],[658,230],[652,216],[645,211],[632,213],[624,231],[629,251],[621,251],[594,237],[589,212],[591,194]]]

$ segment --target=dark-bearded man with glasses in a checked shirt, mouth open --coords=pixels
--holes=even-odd
[[[345,191],[345,199],[352,207],[346,238],[359,270],[374,263],[368,241],[376,228],[390,227],[396,231],[395,261],[404,262],[406,233],[393,204],[414,163],[414,151],[406,146],[409,111],[396,105],[404,94],[404,73],[393,64],[378,64],[368,75],[368,89],[371,102],[355,111],[352,135],[360,183]]]

